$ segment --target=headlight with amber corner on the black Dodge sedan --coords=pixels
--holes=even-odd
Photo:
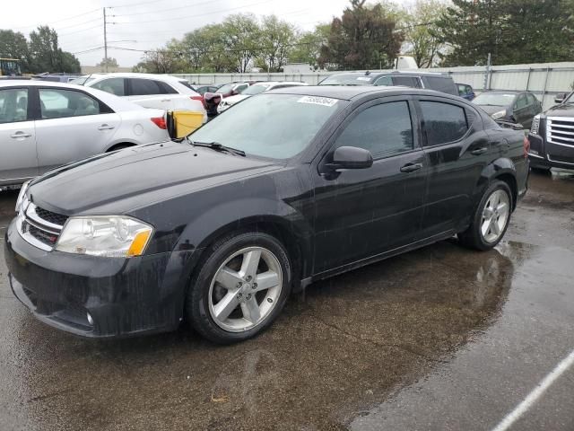
[[[70,217],[56,244],[57,251],[106,258],[130,258],[145,251],[153,228],[130,217]]]

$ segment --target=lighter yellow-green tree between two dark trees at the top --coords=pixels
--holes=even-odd
[[[404,54],[419,67],[437,66],[439,53],[445,49],[436,22],[446,13],[447,4],[439,0],[418,0],[404,16]]]

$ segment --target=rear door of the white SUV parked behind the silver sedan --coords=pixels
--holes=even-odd
[[[178,98],[170,85],[145,78],[127,78],[127,99],[143,108],[170,110],[174,105],[174,98]]]

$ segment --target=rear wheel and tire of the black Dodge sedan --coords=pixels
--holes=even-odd
[[[509,227],[512,207],[509,185],[504,181],[493,181],[476,207],[468,229],[458,233],[459,242],[475,250],[491,250]]]

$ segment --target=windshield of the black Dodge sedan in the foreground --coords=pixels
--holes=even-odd
[[[289,159],[300,154],[344,104],[346,101],[328,97],[260,94],[216,117],[189,138],[260,157]]]

